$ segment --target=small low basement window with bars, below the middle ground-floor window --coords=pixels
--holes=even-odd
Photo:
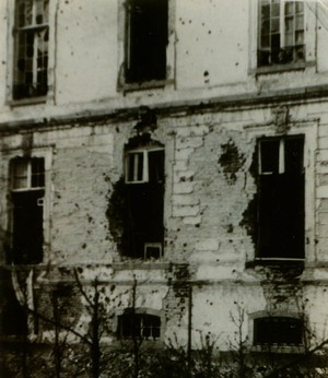
[[[132,309],[128,309],[118,317],[117,336],[119,339],[159,339],[161,318],[155,315],[136,314]]]

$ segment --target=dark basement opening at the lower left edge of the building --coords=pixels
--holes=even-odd
[[[27,333],[27,315],[19,304],[11,280],[11,272],[0,272],[0,334],[24,335]]]

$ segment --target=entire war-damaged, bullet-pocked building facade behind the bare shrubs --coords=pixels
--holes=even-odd
[[[0,17],[5,345],[51,340],[54,297],[86,332],[95,281],[106,345],[230,351],[241,311],[250,352],[301,353],[305,329],[320,344],[325,2],[15,0]]]

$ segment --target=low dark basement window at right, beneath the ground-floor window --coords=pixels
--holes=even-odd
[[[267,317],[254,319],[255,345],[300,345],[303,324],[301,319]]]

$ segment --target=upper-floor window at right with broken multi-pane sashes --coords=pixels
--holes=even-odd
[[[260,0],[258,66],[303,62],[304,2]]]

